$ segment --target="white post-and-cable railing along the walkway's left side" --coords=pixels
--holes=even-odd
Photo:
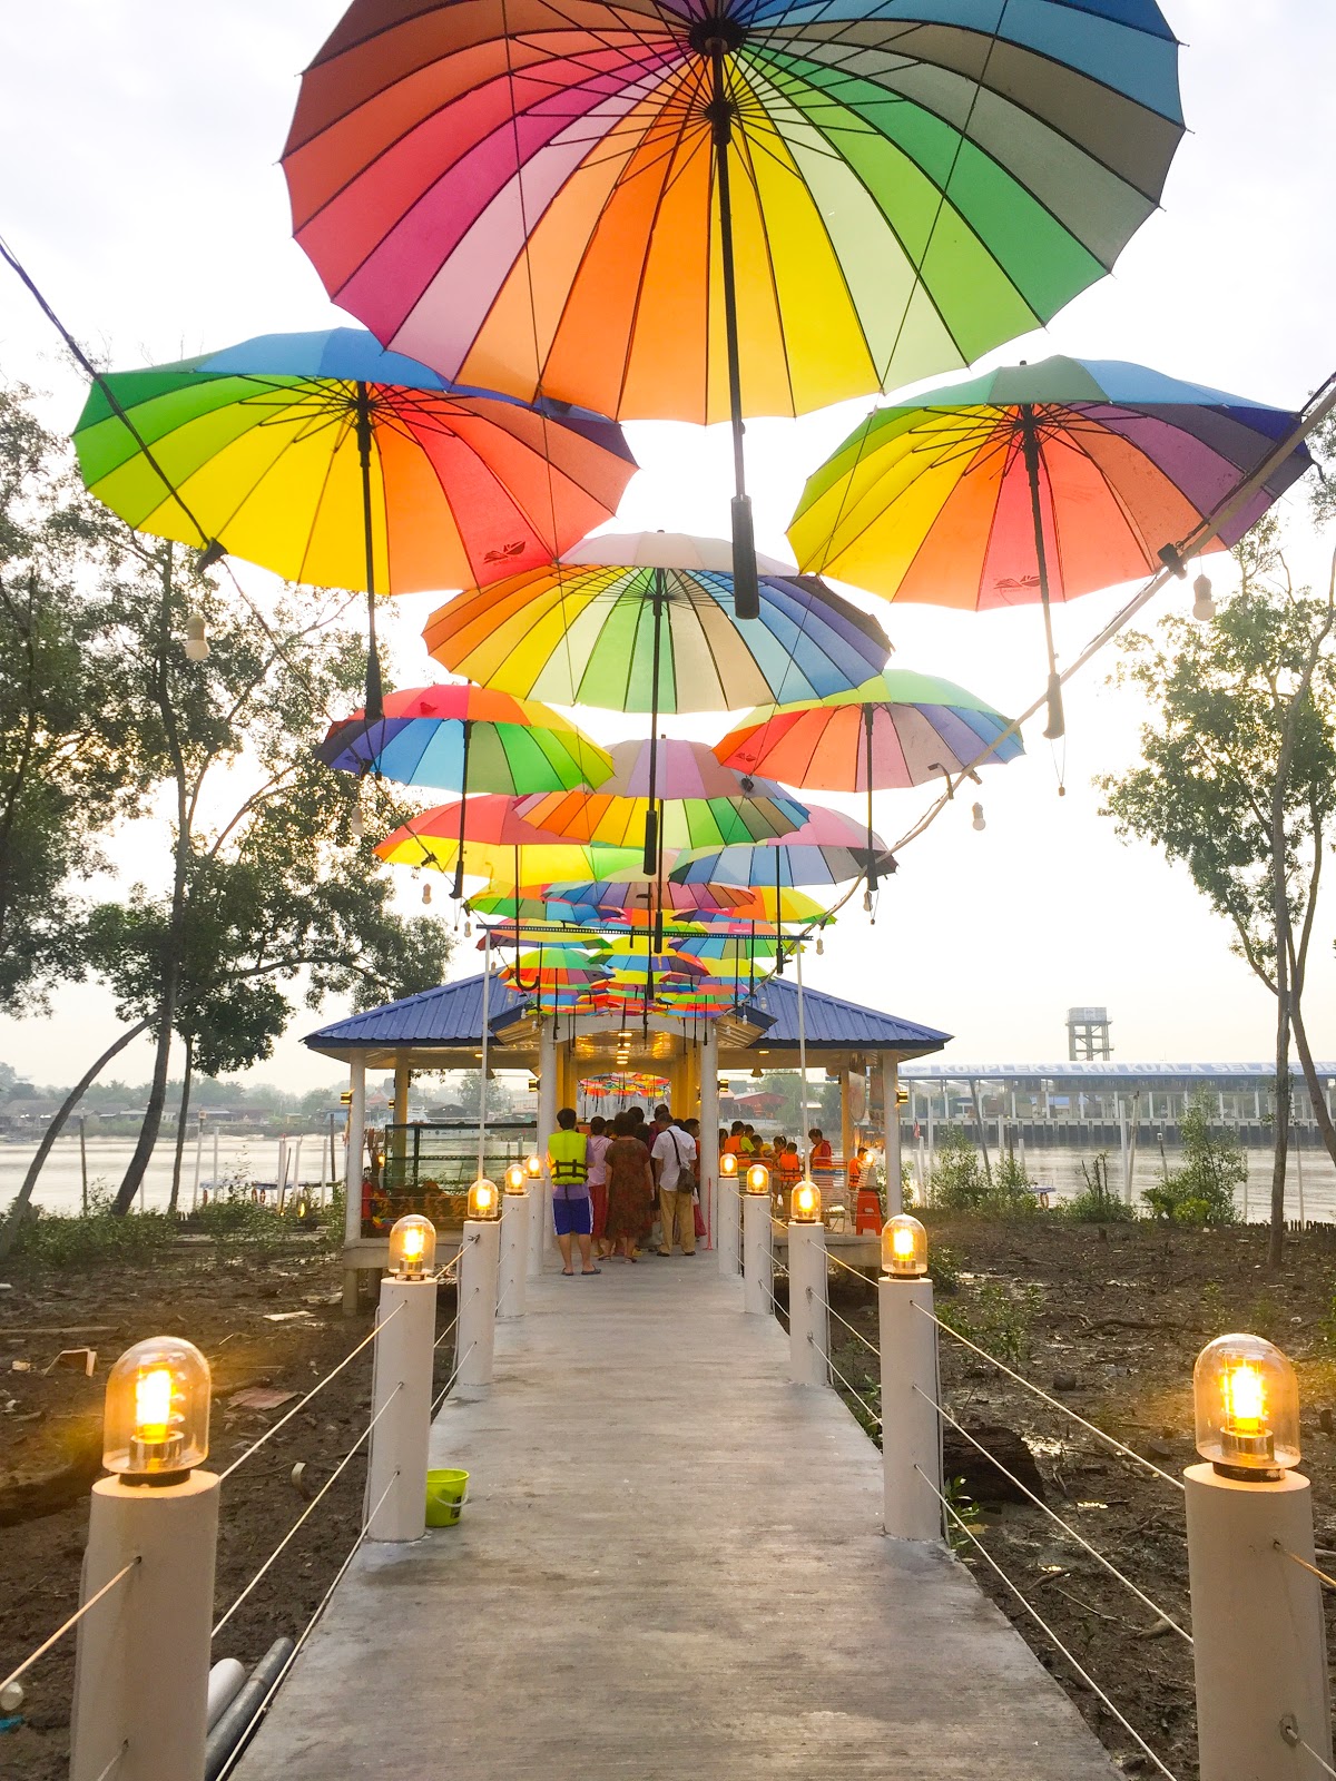
[[[426,1281],[385,1279],[376,1327],[221,1475],[191,1471],[183,1475],[183,1482],[164,1489],[135,1489],[110,1478],[94,1487],[86,1558],[89,1594],[0,1681],[0,1712],[14,1713],[23,1703],[23,1678],[69,1633],[77,1633],[80,1663],[71,1713],[71,1781],[110,1781],[130,1749],[137,1753],[134,1772],[144,1781],[223,1781],[269,1712],[362,1542],[420,1537],[428,1421],[461,1378],[479,1373],[483,1352],[485,1378],[490,1378],[492,1329],[513,1291],[513,1279],[501,1295],[497,1291],[499,1236],[495,1220],[468,1224],[460,1248],[436,1275]],[[522,1241],[522,1232],[517,1232],[517,1240]],[[436,1330],[440,1282],[456,1284],[456,1309]],[[371,1370],[374,1405],[365,1427],[226,1608],[214,1617],[212,1553],[201,1548],[216,1537],[223,1484],[230,1489],[244,1487],[244,1468],[280,1441],[294,1419],[369,1348],[376,1354]],[[435,1373],[444,1373],[438,1386],[433,1386]],[[358,1460],[365,1460],[363,1514],[315,1612],[296,1640],[280,1640],[271,1649],[249,1683],[235,1662],[221,1665],[228,1672],[228,1690],[217,1690],[210,1720],[207,1699],[212,1640],[233,1622],[258,1585],[276,1569],[281,1571],[301,1530],[321,1512],[328,1514],[330,1492]],[[301,1476],[299,1464],[294,1468],[294,1484],[301,1485]],[[173,1516],[164,1517],[159,1509],[167,1501],[178,1507]],[[109,1553],[118,1555],[110,1564]],[[146,1562],[146,1555],[151,1562]],[[98,1582],[103,1574],[105,1582]],[[116,1649],[118,1662],[103,1663],[102,1653],[110,1649]],[[141,1674],[150,1649],[155,1651],[151,1674]],[[157,1722],[162,1715],[155,1717],[155,1703],[166,1690],[171,1690],[178,1704],[185,1703],[185,1708],[169,1715],[180,1726],[164,1733]]]

